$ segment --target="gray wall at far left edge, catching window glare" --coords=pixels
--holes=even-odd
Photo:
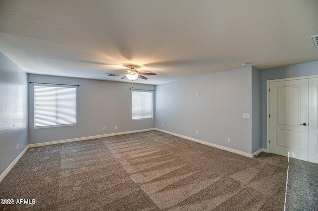
[[[27,73],[0,53],[0,174],[28,144],[27,88]]]

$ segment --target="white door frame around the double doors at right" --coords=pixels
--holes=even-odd
[[[292,81],[292,80],[301,80],[301,79],[310,79],[310,78],[318,78],[318,75],[309,75],[309,76],[300,76],[300,77],[291,77],[291,78],[281,78],[281,79],[273,79],[266,81],[266,152],[270,152],[270,145],[268,144],[269,138],[269,83],[278,82],[278,81]]]

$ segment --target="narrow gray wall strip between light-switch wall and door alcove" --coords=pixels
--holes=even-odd
[[[261,70],[252,66],[252,152],[262,148]]]

